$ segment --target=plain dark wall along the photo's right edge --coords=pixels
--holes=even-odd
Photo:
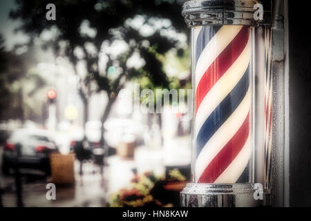
[[[311,24],[310,7],[301,7],[306,2],[288,1],[291,206],[311,206]]]

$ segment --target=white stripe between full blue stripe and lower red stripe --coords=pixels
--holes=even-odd
[[[234,137],[236,131],[242,126],[250,108],[250,90],[247,90],[241,104],[236,108],[236,111],[220,126],[218,131],[209,139],[202,148],[196,160],[196,182],[205,171],[211,160],[221,151],[221,149]]]

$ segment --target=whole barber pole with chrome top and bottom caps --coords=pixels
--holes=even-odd
[[[182,206],[256,206],[254,19],[258,1],[187,1],[191,28],[191,184]],[[258,5],[257,5],[258,6]],[[264,162],[263,162],[264,164]]]

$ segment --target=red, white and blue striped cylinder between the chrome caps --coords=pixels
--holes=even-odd
[[[249,26],[194,28],[194,179],[236,183],[252,154]]]

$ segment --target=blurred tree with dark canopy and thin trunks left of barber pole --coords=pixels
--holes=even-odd
[[[19,29],[32,37],[46,30],[54,33],[44,46],[52,47],[57,56],[68,57],[73,65],[79,77],[85,125],[92,93],[106,91],[108,103],[102,115],[102,122],[105,122],[127,80],[145,76],[154,86],[169,88],[170,80],[158,55],[180,48],[178,34],[186,30],[181,16],[183,2],[58,0],[53,1],[56,20],[48,21],[46,5],[50,0],[16,1],[17,8],[10,12],[10,17],[21,19]],[[126,50],[115,55],[122,42],[126,43]],[[143,65],[129,65],[129,59],[135,55],[144,60]],[[79,64],[84,64],[86,75],[79,73]],[[104,128],[102,144],[103,133]]]

